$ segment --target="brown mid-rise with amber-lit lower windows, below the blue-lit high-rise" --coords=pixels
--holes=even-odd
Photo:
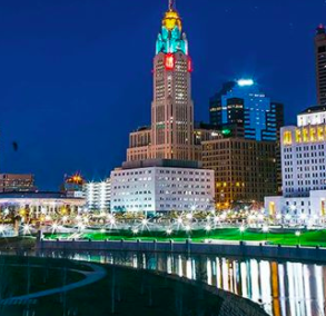
[[[263,204],[277,194],[275,142],[220,138],[202,142],[202,167],[215,170],[218,208]]]

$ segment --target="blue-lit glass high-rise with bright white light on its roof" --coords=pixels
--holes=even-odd
[[[283,106],[273,102],[250,79],[226,82],[210,99],[209,111],[210,124],[217,128],[237,126],[247,139],[278,139],[277,118],[283,116]]]

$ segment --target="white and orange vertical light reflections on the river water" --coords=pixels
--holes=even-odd
[[[63,256],[62,253],[42,255]],[[148,253],[70,253],[65,256],[202,280],[261,304],[273,316],[326,316],[326,266]]]

